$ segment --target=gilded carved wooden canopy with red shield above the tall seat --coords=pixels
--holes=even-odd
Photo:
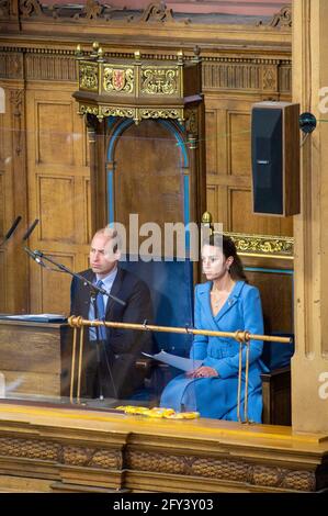
[[[80,114],[123,116],[138,123],[143,119],[172,119],[182,123],[185,109],[202,101],[201,63],[185,60],[178,52],[177,60],[146,60],[135,52],[134,58],[105,58],[93,43],[84,55],[76,52],[79,90],[73,97]]]

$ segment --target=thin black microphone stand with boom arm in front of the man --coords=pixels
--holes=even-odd
[[[116,303],[120,303],[123,306],[126,305],[125,301],[123,301],[120,298],[116,298],[115,295],[111,294],[105,289],[95,285],[94,283],[89,281],[83,276],[81,276],[77,272],[73,272],[72,270],[68,269],[68,267],[64,266],[63,263],[59,263],[58,261],[56,261],[53,258],[50,258],[49,256],[45,255],[41,250],[36,249],[34,251],[31,251],[31,249],[29,249],[29,250],[27,250],[27,248],[24,248],[24,249],[29,253],[30,256],[34,255],[34,256],[32,256],[32,258],[34,258],[35,261],[37,263],[42,265],[43,267],[45,267],[45,263],[43,263],[42,259],[47,260],[52,265],[54,265],[58,268],[58,269],[52,269],[52,270],[55,270],[55,271],[58,271],[58,272],[66,272],[70,276],[72,276],[73,278],[77,278],[78,280],[82,281],[84,285],[88,285],[89,289],[90,289],[90,299],[91,299],[91,303],[93,305],[93,312],[94,312],[94,318],[95,319],[98,319],[98,315],[99,315],[98,310],[97,310],[97,295],[106,295],[108,298],[111,298],[112,300],[114,300]],[[106,368],[108,368],[109,374],[111,377],[111,382],[112,382],[112,385],[113,385],[114,396],[117,399],[117,391],[116,391],[114,378],[113,378],[113,374],[112,374],[112,369],[111,369],[111,366],[110,366],[110,362],[109,362],[108,354],[106,354],[106,350],[104,348],[104,341],[100,338],[100,327],[97,326],[94,329],[95,329],[95,346],[97,346],[97,370],[98,370],[98,381],[99,381],[99,399],[103,400],[102,374],[101,374],[101,368],[100,368],[100,364],[101,364],[101,348],[103,349],[103,355],[104,355],[104,359],[105,359],[105,362],[106,362]]]

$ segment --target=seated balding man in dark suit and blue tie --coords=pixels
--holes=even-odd
[[[83,318],[143,324],[151,322],[149,289],[135,274],[118,265],[116,232],[99,229],[91,242],[90,269],[81,272],[86,279],[121,299],[98,294],[92,301],[90,288],[77,278],[71,282],[71,315]],[[101,284],[99,284],[101,281]],[[126,399],[144,383],[145,371],[136,367],[142,351],[151,352],[151,334],[121,328],[90,328],[86,332],[83,354],[84,382],[82,395],[90,397]]]

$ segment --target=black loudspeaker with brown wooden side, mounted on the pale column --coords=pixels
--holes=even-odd
[[[299,213],[299,104],[253,104],[251,161],[253,212]]]

